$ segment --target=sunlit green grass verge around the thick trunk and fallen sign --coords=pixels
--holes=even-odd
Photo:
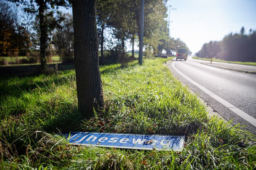
[[[73,70],[1,79],[0,169],[255,168],[255,136],[208,117],[164,67],[169,59],[101,66],[105,106],[88,120],[77,112]],[[182,152],[120,150],[52,135],[70,130],[186,135],[186,143]]]

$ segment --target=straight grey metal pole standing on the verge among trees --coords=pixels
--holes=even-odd
[[[144,0],[140,0],[140,28],[139,28],[139,65],[142,65],[143,32],[144,32]]]

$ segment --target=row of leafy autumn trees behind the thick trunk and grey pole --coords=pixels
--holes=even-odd
[[[71,14],[62,13],[59,6],[69,8],[70,1],[2,0],[0,7],[0,56],[28,56],[30,62],[40,60],[42,69],[54,54],[62,62],[74,60],[74,29]],[[167,0],[145,0],[144,56],[169,54],[179,38],[168,37]],[[140,0],[97,0],[97,32],[100,63],[134,59],[134,45],[140,35]],[[132,46],[126,54],[127,43]],[[167,45],[169,46],[167,48]]]

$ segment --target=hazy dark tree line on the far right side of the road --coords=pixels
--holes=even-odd
[[[228,61],[256,62],[256,30],[249,30],[245,34],[242,27],[239,34],[230,33],[221,41],[210,41],[196,53],[198,57]]]

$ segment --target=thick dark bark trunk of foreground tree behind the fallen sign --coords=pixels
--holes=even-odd
[[[72,10],[78,109],[84,117],[90,117],[94,109],[103,107],[96,0],[75,0]]]

